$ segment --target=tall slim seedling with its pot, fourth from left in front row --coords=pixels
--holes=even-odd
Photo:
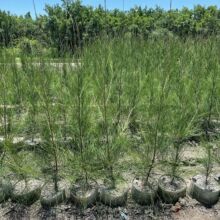
[[[79,174],[70,189],[70,199],[77,205],[87,208],[97,201],[98,188],[91,177],[93,161],[92,94],[91,75],[86,60],[71,70],[69,98],[71,106],[72,137],[79,156]],[[74,170],[76,172],[76,170]],[[76,174],[76,173],[75,173]]]

